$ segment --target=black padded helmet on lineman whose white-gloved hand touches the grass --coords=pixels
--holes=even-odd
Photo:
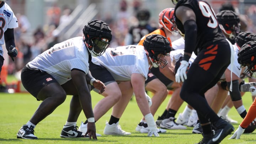
[[[164,68],[167,65],[167,60],[162,59],[164,56],[170,56],[171,46],[167,38],[160,34],[152,34],[146,37],[143,46],[155,68]]]

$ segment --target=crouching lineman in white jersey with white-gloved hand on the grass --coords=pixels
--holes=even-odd
[[[92,58],[90,64],[92,76],[106,85],[106,90],[102,93],[104,98],[94,108],[95,120],[100,119],[113,107],[110,121],[106,122],[104,134],[131,134],[122,130],[118,124],[134,91],[140,111],[148,125],[148,136],[159,136],[159,129],[156,128],[146,99],[144,85],[145,80],[148,79],[149,68],[152,65],[164,68],[167,65],[165,55],[168,55],[170,51],[170,42],[164,36],[153,34],[146,37],[143,46],[108,48],[102,57]],[[127,86],[127,83],[124,86],[123,81],[129,81],[130,86]],[[123,95],[123,92],[129,95]],[[86,131],[86,123],[87,121],[82,123],[79,130]]]

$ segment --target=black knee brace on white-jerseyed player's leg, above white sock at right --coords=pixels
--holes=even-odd
[[[230,87],[231,82],[227,82],[228,87]],[[229,91],[230,97],[232,101],[238,101],[242,99],[242,96],[239,91],[239,81],[233,80],[232,81],[232,92]]]

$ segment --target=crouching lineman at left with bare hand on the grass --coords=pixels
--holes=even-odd
[[[73,95],[69,116],[60,137],[97,139],[90,87],[87,84],[100,90],[100,94],[104,91],[105,85],[91,76],[89,63],[92,57],[98,57],[105,52],[112,34],[108,24],[100,20],[89,21],[82,32],[81,37],[55,44],[22,69],[23,86],[42,103],[31,119],[20,128],[17,138],[38,139],[34,135],[36,125],[61,105],[66,95]],[[81,110],[88,119],[85,134],[76,128]]]

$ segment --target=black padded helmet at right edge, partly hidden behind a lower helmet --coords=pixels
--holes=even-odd
[[[256,34],[252,32],[241,32],[236,36],[235,42],[241,48],[247,42],[256,41]]]

